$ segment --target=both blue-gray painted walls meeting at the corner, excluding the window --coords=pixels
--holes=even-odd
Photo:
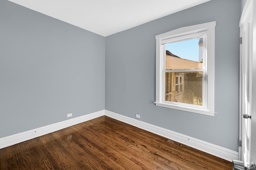
[[[0,0],[0,138],[105,108],[237,151],[242,1],[212,0],[104,38]],[[155,36],[209,21],[217,114],[155,106]]]

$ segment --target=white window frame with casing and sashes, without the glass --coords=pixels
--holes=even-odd
[[[214,116],[214,56],[215,56],[215,26],[216,21],[181,27],[156,35],[156,106],[168,107],[193,113]],[[202,69],[196,70],[168,70],[168,72],[203,71],[203,106],[165,101],[164,73],[166,58],[166,43],[204,38],[204,64]],[[184,84],[184,83],[183,83]],[[184,88],[184,86],[183,86]]]

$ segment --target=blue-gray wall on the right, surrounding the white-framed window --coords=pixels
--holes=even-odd
[[[106,37],[106,110],[238,150],[240,0],[212,0]],[[171,8],[171,7],[170,7]],[[155,36],[216,21],[212,116],[155,106]]]

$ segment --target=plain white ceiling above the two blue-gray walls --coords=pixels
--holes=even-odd
[[[9,0],[104,37],[210,0]]]

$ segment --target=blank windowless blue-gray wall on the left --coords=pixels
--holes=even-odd
[[[0,138],[105,108],[105,37],[0,0]]]

